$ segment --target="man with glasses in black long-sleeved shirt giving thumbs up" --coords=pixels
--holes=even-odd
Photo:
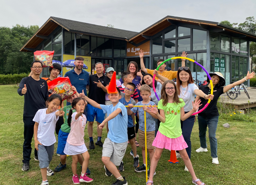
[[[24,143],[23,143],[23,166],[22,171],[29,170],[29,160],[31,155],[31,141],[34,135],[33,118],[39,109],[45,108],[45,101],[48,99],[47,82],[39,78],[43,65],[39,61],[31,63],[31,71],[33,74],[30,77],[22,78],[18,94],[24,95]],[[37,151],[35,149],[35,160],[38,161]]]

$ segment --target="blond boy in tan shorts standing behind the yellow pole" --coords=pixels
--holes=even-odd
[[[142,85],[140,87],[140,95],[142,97],[142,101],[136,103],[136,106],[143,106],[143,105],[156,105],[153,101],[149,100],[149,96],[151,95],[151,88],[148,85]],[[143,158],[143,165],[135,168],[135,172],[145,172],[146,171],[146,148],[145,148],[145,121],[144,121],[144,110],[146,111],[146,126],[147,126],[147,149],[149,153],[149,159],[152,160],[154,155],[155,147],[152,146],[152,143],[155,139],[155,129],[156,129],[156,122],[154,118],[156,115],[147,112],[147,107],[133,107],[132,109],[128,108],[127,113],[131,115],[133,113],[139,112],[139,142],[140,147],[142,148],[142,158]],[[149,169],[149,168],[148,168]],[[150,169],[148,170],[148,177],[150,174]],[[154,172],[154,175],[156,172]]]

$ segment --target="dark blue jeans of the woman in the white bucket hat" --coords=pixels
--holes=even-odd
[[[207,148],[206,144],[206,130],[207,126],[209,129],[209,140],[210,140],[210,147],[211,147],[211,156],[213,158],[218,157],[217,156],[217,138],[216,136],[216,130],[218,126],[218,120],[219,116],[216,117],[204,117],[198,115],[198,126],[199,126],[199,138],[200,138],[200,144],[202,148]]]

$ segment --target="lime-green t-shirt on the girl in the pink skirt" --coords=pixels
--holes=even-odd
[[[180,109],[185,105],[183,99],[180,98],[181,103],[167,103],[163,106],[163,100],[158,103],[158,109],[164,110],[165,122],[160,123],[159,132],[169,138],[177,138],[182,134],[180,127]]]

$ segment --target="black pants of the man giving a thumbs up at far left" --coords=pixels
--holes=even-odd
[[[33,122],[34,117],[23,117],[24,122],[24,143],[23,143],[23,163],[29,162],[30,155],[31,155],[31,141],[34,135],[34,125],[35,122]],[[33,148],[35,148],[33,146]],[[35,156],[37,155],[37,150],[35,148]]]

